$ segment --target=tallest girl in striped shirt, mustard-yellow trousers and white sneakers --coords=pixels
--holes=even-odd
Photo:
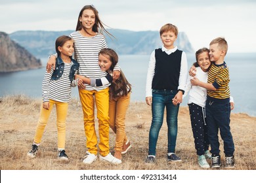
[[[70,35],[74,39],[75,58],[79,62],[79,75],[81,76],[88,78],[102,78],[106,76],[106,72],[101,71],[100,67],[98,67],[98,53],[102,48],[107,48],[102,31],[111,35],[104,29],[96,8],[93,5],[83,7],[79,12],[75,32]],[[50,58],[47,68],[54,64],[54,61],[51,61],[52,58]],[[116,65],[113,72],[114,79],[119,77],[119,70],[119,66]],[[120,159],[112,156],[109,147],[108,86],[110,84],[104,86],[84,85],[78,84],[79,97],[83,107],[83,124],[87,139],[86,146],[88,149],[83,163],[93,163],[97,159],[98,148],[100,160],[110,163],[121,163]],[[99,142],[97,141],[95,131],[95,105],[97,108]]]

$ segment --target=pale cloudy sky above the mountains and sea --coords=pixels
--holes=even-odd
[[[256,52],[255,0],[0,0],[0,31],[75,30],[84,5],[94,5],[113,29],[159,31],[171,23],[186,33],[194,50],[224,37],[228,52]]]

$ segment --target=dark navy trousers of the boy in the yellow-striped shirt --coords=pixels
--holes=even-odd
[[[220,130],[221,139],[224,142],[224,154],[233,156],[234,142],[230,132],[230,103],[218,103],[207,99],[205,109],[211,153],[219,156],[218,133]]]

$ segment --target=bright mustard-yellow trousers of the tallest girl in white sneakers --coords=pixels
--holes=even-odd
[[[100,91],[96,90],[79,90],[79,97],[83,107],[83,125],[86,146],[91,154],[97,154],[97,137],[95,131],[95,105],[97,108],[98,118],[98,135],[100,142],[98,148],[100,155],[107,156],[110,152],[109,146],[109,128],[110,122],[108,117],[109,93],[108,88]]]

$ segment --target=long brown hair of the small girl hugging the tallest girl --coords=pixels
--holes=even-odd
[[[111,48],[103,48],[98,54],[109,57],[112,63],[110,66],[110,71],[112,72],[118,63],[118,56],[116,52]],[[113,81],[110,85],[110,97],[112,98],[118,97],[119,93],[121,93],[121,95],[128,95],[128,93],[131,92],[131,84],[128,82],[127,78],[125,78],[123,71],[120,72],[121,74],[119,78]]]

